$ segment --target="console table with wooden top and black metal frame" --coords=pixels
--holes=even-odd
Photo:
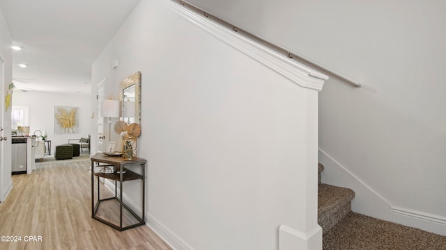
[[[142,174],[137,174],[136,172],[132,172],[130,168],[133,167],[141,167]],[[95,170],[96,169],[96,170]],[[121,171],[122,170],[122,171]],[[134,169],[136,171],[136,169]],[[123,160],[121,157],[115,156],[106,156],[104,153],[96,153],[95,156],[91,157],[91,217],[96,219],[112,228],[115,228],[118,231],[123,231],[129,228],[134,228],[135,226],[140,226],[146,224],[144,220],[144,206],[145,206],[145,172],[146,172],[146,160],[141,158],[135,158],[134,160]],[[97,197],[95,199],[94,188],[95,188],[95,176],[97,179],[98,187],[97,187]],[[100,180],[99,177],[107,178],[109,180],[114,181],[114,197],[107,197],[101,199],[100,197]],[[125,181],[142,181],[142,214],[141,216],[137,215],[132,208],[130,208],[127,204],[123,202],[123,183]],[[119,182],[119,196],[118,196],[118,186],[116,185]],[[103,209],[112,209],[115,206],[106,206],[104,208],[100,208],[100,204],[105,201],[118,201],[119,207],[119,224],[114,224],[111,222],[111,218],[100,217],[98,215],[99,210]],[[128,225],[123,225],[123,208],[127,210],[130,215],[132,215],[132,219],[135,221]],[[117,209],[117,208],[116,208]],[[113,216],[112,211],[105,211],[103,214]]]

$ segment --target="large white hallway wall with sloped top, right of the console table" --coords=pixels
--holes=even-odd
[[[175,249],[321,249],[318,92],[302,85],[323,80],[277,59],[291,81],[178,8],[141,1],[92,67],[114,99],[141,71],[148,224]],[[139,186],[125,189],[141,206]]]

